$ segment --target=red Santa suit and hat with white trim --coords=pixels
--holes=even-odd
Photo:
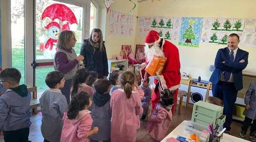
[[[176,103],[177,95],[178,95],[178,88],[180,88],[180,57],[178,48],[169,41],[164,40],[163,38],[159,37],[159,33],[151,30],[149,34],[145,38],[145,45],[150,46],[153,45],[155,42],[159,43],[163,40],[163,44],[161,46],[164,56],[167,58],[165,66],[163,68],[162,74],[159,75],[159,80],[154,79],[154,84],[156,88],[154,88],[152,93],[152,110],[154,110],[157,102],[160,100],[159,94],[160,91],[163,89],[169,89],[171,91],[176,91],[174,100]],[[150,50],[150,49],[149,49]],[[146,60],[145,63],[142,63],[145,66],[148,64]],[[144,69],[141,70],[142,78],[147,78],[150,76]],[[157,85],[159,84],[159,85]],[[159,91],[160,90],[160,91]],[[171,108],[171,112],[173,114],[175,109],[175,105]]]

